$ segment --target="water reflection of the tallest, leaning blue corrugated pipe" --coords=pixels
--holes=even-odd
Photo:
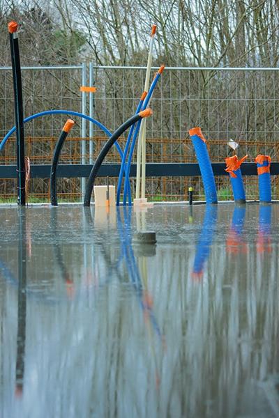
[[[204,214],[202,231],[197,242],[195,261],[193,266],[193,277],[201,279],[204,274],[204,264],[209,258],[214,234],[216,233],[216,222],[218,215],[218,206],[207,205]]]

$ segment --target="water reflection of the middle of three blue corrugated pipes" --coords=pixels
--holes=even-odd
[[[232,215],[232,224],[227,235],[227,252],[229,254],[238,254],[239,251],[246,253],[247,245],[243,242],[243,226],[245,222],[246,206],[234,206]]]

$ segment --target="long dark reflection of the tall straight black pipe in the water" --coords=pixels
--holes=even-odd
[[[15,365],[15,394],[22,396],[27,317],[27,233],[26,211],[19,208],[18,288],[17,288],[17,357]]]

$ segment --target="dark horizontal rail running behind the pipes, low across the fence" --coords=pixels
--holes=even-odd
[[[58,177],[89,177],[91,164],[60,164],[57,168]],[[225,171],[225,164],[213,162],[213,173],[215,176],[228,176]],[[117,177],[119,176],[120,164],[103,164],[100,167],[98,177]],[[257,165],[254,162],[244,162],[241,164],[243,176],[257,176]],[[279,174],[279,162],[271,163],[271,174]],[[175,177],[175,176],[200,176],[199,164],[197,163],[147,163],[146,177]],[[132,164],[130,176],[136,176],[136,164]],[[50,177],[50,165],[36,164],[31,165],[31,178]],[[16,178],[16,166],[0,166],[0,178]]]

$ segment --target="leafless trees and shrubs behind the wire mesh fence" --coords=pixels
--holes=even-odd
[[[0,66],[10,65],[7,24],[17,20],[22,65],[93,62],[144,66],[151,25],[155,23],[154,65],[277,68],[278,8],[277,0],[2,0]],[[193,161],[193,150],[184,140],[188,128],[195,125],[201,126],[210,139],[243,141],[241,155],[252,149],[253,155],[270,153],[273,160],[278,159],[277,73],[165,72],[152,102],[154,114],[147,141],[150,161]],[[135,108],[135,98],[142,93],[143,74],[96,70],[95,114],[109,129],[113,130]],[[14,118],[11,77],[5,77],[0,83],[3,133],[13,125]],[[42,82],[41,76],[25,72],[26,114],[61,108],[61,97],[64,107],[79,110],[80,72],[63,75],[61,80],[45,71]],[[59,125],[53,118],[38,121],[32,135],[56,137],[53,125]],[[77,123],[76,136],[80,134],[78,129]],[[164,144],[154,144],[156,138]],[[42,153],[39,148],[38,153]],[[218,144],[211,146],[210,152],[212,160],[223,161],[227,148]],[[165,190],[176,194],[179,187],[170,191],[166,186]],[[223,187],[226,189],[227,183]],[[160,192],[160,181],[156,190]]]

